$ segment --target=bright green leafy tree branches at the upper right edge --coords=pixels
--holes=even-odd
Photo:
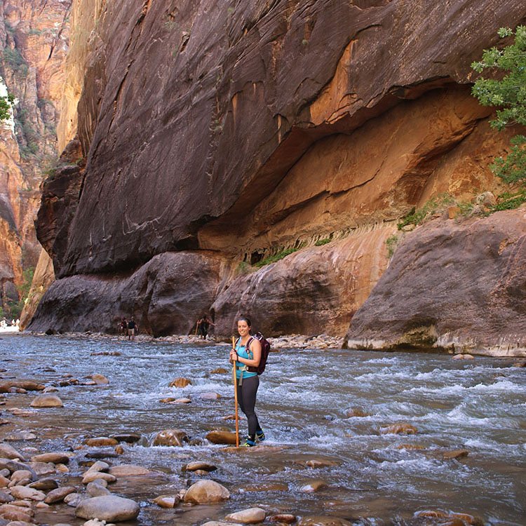
[[[497,107],[497,118],[490,121],[492,128],[526,126],[526,26],[513,29],[501,27],[501,38],[514,37],[513,43],[484,51],[479,62],[471,67],[477,73],[489,69],[497,79],[481,77],[473,85],[472,93],[483,106]],[[526,182],[526,136],[515,135],[506,156],[497,157],[490,166],[493,173],[506,182]]]

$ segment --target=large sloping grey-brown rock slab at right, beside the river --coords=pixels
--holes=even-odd
[[[526,349],[526,207],[482,219],[438,219],[396,250],[353,317],[349,346]]]

